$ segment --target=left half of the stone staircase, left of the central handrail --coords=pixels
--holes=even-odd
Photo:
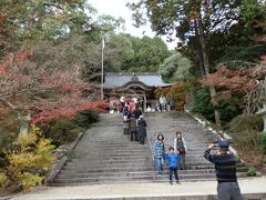
[[[123,134],[121,114],[101,114],[52,186],[153,181],[151,150]]]

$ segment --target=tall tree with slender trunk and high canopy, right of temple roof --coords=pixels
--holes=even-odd
[[[237,0],[147,0],[129,4],[132,10],[135,10],[134,17],[137,26],[145,22],[142,20],[143,13],[145,13],[152,23],[152,29],[158,34],[171,36],[176,32],[176,37],[181,39],[183,46],[186,46],[191,38],[195,38],[194,43],[202,76],[208,76],[211,71],[209,53],[206,46],[207,34],[229,29],[237,17],[236,6]],[[214,88],[211,88],[209,91],[211,96],[214,97]],[[219,123],[217,110],[215,110],[215,120]]]

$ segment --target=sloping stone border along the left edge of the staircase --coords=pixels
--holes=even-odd
[[[76,144],[79,143],[79,141],[81,140],[81,138],[84,136],[85,132],[80,132],[76,137],[76,139],[70,144],[70,147],[68,148],[68,152],[73,151],[73,149],[76,147]],[[48,174],[48,179],[47,179],[47,184],[50,184],[53,182],[53,180],[55,179],[57,174],[59,173],[59,171],[63,168],[63,166],[68,161],[68,157],[63,156],[63,158],[61,160],[59,160],[59,162],[54,163],[51,168],[50,173]]]

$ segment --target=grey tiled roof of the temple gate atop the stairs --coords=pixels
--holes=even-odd
[[[139,80],[149,87],[167,87],[172,83],[164,83],[160,73],[108,73],[105,76],[104,88],[123,87],[126,82]]]

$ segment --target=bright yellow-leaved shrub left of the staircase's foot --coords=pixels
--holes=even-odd
[[[7,153],[8,177],[13,182],[18,181],[23,189],[40,184],[54,160],[53,149],[51,139],[44,139],[40,129],[32,127],[31,132],[20,134],[12,142],[12,148]]]

